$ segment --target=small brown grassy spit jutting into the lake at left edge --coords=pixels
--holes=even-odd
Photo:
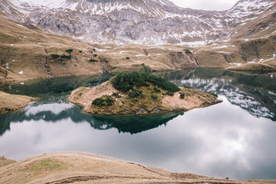
[[[33,100],[29,96],[0,92],[0,114],[24,108]]]

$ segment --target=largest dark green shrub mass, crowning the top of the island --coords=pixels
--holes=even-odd
[[[147,83],[157,85],[159,88],[167,90],[168,92],[178,92],[180,89],[174,83],[167,81],[155,74],[148,72],[124,72],[119,73],[111,81],[113,87],[123,92],[132,90],[134,86],[138,88],[141,86],[148,86]]]

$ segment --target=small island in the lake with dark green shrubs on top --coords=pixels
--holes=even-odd
[[[72,91],[69,101],[92,114],[158,114],[185,112],[220,103],[216,94],[201,92],[149,72],[124,72],[95,88]]]

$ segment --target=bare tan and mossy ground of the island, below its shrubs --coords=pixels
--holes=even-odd
[[[155,86],[150,85],[150,89]],[[144,96],[132,98],[128,93],[120,92],[112,87],[110,81],[102,83],[95,88],[78,88],[72,91],[69,101],[84,107],[84,111],[92,114],[159,114],[165,112],[185,112],[194,108],[201,108],[208,105],[220,103],[217,96],[195,89],[181,88],[180,92],[175,92],[169,96],[166,91],[161,90],[157,95],[157,99],[152,99],[153,90],[148,87],[141,87]],[[112,96],[112,93],[118,92],[120,97]],[[179,93],[184,93],[185,98],[180,99]],[[95,99],[109,95],[114,99],[113,105],[97,106],[92,105]]]

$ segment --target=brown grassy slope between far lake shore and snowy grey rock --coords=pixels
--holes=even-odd
[[[210,45],[187,47],[90,44],[34,27],[23,27],[3,17],[0,17],[0,30],[0,82],[137,71],[141,63],[149,65],[152,70],[229,67],[233,63],[271,59],[276,54],[276,33],[258,39],[217,41]],[[68,54],[65,50],[69,48],[73,49],[72,59],[52,59],[51,54]],[[186,53],[186,49],[191,54]],[[89,59],[99,62],[90,63]],[[19,74],[21,71],[23,74]]]

